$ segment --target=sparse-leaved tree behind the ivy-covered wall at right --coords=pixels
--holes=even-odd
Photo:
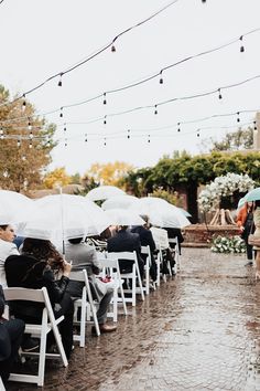
[[[213,145],[210,151],[236,151],[243,149],[252,149],[253,147],[253,129],[248,127],[247,129],[239,128],[237,131],[229,131],[225,135],[223,140],[216,141],[213,138],[205,140],[204,146],[208,149],[208,145]]]

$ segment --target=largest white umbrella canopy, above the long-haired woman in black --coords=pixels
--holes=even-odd
[[[31,216],[20,226],[18,234],[54,243],[97,235],[109,226],[104,213],[101,208],[82,196],[46,196],[34,201]]]

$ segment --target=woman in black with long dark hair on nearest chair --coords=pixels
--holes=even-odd
[[[58,327],[68,359],[73,349],[74,316],[74,305],[66,292],[71,268],[72,265],[63,260],[50,241],[31,237],[24,240],[21,255],[11,255],[6,261],[8,286],[33,289],[46,287],[55,317],[64,315]],[[62,277],[56,279],[58,273],[62,273]],[[28,302],[19,302],[12,304],[11,310],[25,323],[42,321],[42,304],[32,306]]]

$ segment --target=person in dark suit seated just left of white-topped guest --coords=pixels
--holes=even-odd
[[[153,281],[156,281],[156,263],[154,261],[153,253],[155,251],[155,242],[152,236],[152,232],[149,230],[150,224],[149,224],[149,218],[148,215],[141,215],[142,220],[144,220],[143,225],[134,225],[131,229],[132,233],[138,233],[140,237],[140,242],[142,246],[148,246],[150,247],[151,251],[151,266],[150,266],[150,276]],[[147,260],[148,254],[142,254],[143,261]]]

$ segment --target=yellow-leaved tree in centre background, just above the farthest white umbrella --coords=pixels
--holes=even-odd
[[[123,161],[113,163],[94,163],[87,171],[86,177],[100,184],[120,186],[133,167]]]

